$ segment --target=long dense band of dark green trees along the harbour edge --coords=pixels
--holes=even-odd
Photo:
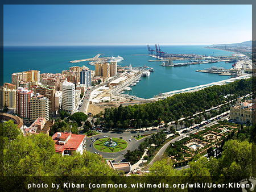
[[[239,80],[222,86],[211,86],[193,93],[181,93],[172,97],[146,103],[143,105],[125,106],[118,108],[105,108],[102,120],[106,128],[141,128],[157,126],[164,123],[177,121],[181,117],[189,117],[196,112],[208,110],[213,106],[221,105],[238,96],[246,95],[252,91],[252,78]],[[228,97],[224,97],[229,95]],[[213,111],[210,116],[217,114]],[[204,114],[209,118],[208,114]],[[193,119],[192,119],[193,120]],[[193,121],[187,122],[187,126]]]

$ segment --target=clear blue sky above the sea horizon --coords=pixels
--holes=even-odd
[[[251,5],[4,5],[4,45],[221,44],[251,40]]]

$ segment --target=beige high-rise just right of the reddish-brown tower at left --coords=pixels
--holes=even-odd
[[[49,120],[49,99],[37,93],[30,99],[30,122],[39,117]]]

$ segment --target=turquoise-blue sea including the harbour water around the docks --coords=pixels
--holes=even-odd
[[[154,46],[151,46],[154,48]],[[233,52],[205,48],[205,45],[163,45],[160,47],[167,53],[185,53],[198,55],[229,56]],[[218,74],[199,73],[196,70],[207,69],[212,66],[232,68],[233,63],[217,62],[213,64],[197,64],[179,67],[160,66],[162,62],[148,62],[155,60],[147,56],[146,45],[127,46],[44,46],[44,47],[4,47],[3,48],[3,81],[11,82],[11,74],[26,70],[40,70],[40,73],[61,73],[71,66],[88,66],[94,70],[89,61],[77,64],[69,63],[71,60],[87,59],[96,56],[102,57],[122,56],[121,66],[150,66],[154,72],[149,77],[141,78],[127,94],[141,98],[152,98],[160,93],[172,90],[185,89],[210,82],[226,80],[230,76]],[[175,61],[183,62],[183,61]]]

